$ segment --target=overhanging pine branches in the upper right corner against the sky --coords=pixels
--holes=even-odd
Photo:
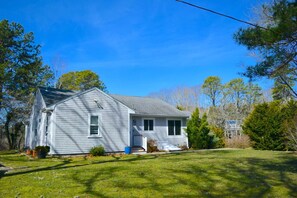
[[[275,0],[264,4],[260,19],[260,25],[265,28],[241,28],[234,35],[239,44],[262,57],[262,61],[249,66],[244,74],[251,79],[277,78],[297,97],[297,1]]]

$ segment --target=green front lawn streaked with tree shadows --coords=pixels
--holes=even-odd
[[[86,159],[0,153],[0,197],[297,197],[297,155],[211,150]]]

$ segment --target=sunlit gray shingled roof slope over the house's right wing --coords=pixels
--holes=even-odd
[[[138,115],[189,117],[190,113],[180,111],[163,100],[148,97],[111,95],[116,100],[133,109]]]

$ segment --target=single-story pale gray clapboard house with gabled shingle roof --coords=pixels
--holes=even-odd
[[[154,98],[111,95],[98,88],[82,92],[40,87],[36,92],[25,146],[50,146],[50,154],[106,152],[125,147],[160,149],[188,145],[184,128],[188,112]],[[162,146],[164,148],[162,148]],[[165,148],[166,147],[166,148]]]

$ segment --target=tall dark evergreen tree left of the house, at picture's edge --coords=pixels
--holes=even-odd
[[[0,21],[0,127],[10,149],[20,148],[23,142],[32,93],[51,78],[33,33],[25,33],[18,23]]]

